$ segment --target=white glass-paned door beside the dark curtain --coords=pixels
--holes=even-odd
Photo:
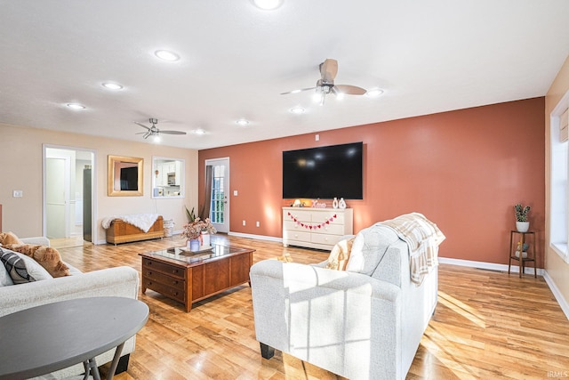
[[[205,160],[205,166],[212,166],[212,202],[210,220],[220,232],[229,231],[229,158]]]

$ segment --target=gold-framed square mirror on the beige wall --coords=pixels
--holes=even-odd
[[[144,158],[108,155],[108,196],[139,197],[144,194]]]

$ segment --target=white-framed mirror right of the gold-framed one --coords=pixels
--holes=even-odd
[[[184,198],[184,166],[180,158],[152,158],[152,198]]]

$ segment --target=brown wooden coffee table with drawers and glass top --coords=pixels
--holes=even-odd
[[[152,289],[179,301],[190,311],[192,303],[248,282],[254,249],[212,244],[198,253],[184,247],[139,254],[142,256],[142,293]]]

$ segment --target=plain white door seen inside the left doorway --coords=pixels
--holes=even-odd
[[[69,237],[69,159],[47,158],[45,161],[46,234],[50,239]]]

